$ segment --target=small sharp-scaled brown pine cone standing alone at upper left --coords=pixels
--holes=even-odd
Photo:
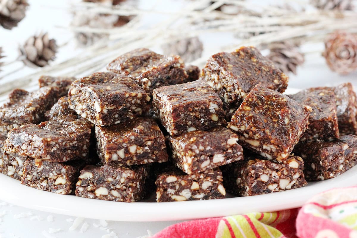
[[[57,44],[56,40],[49,39],[47,33],[41,33],[38,36],[31,36],[19,50],[19,60],[25,65],[33,68],[43,67],[55,59]]]

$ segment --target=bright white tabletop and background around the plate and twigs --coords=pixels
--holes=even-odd
[[[11,31],[0,28],[0,47],[2,47],[4,55],[6,56],[1,59],[1,61],[5,63],[5,66],[1,68],[0,86],[3,82],[14,80],[41,70],[29,68],[24,66],[21,61],[16,61],[19,54],[17,51],[19,44],[23,44],[31,35],[39,32],[48,32],[50,38],[57,40],[57,44],[61,47],[58,49],[56,60],[51,62],[51,64],[62,62],[69,57],[85,52],[85,48],[77,47],[74,34],[69,29],[72,19],[70,13],[71,4],[76,1],[79,0],[29,0],[30,6],[26,12],[26,17],[17,27],[14,27]],[[169,13],[181,9],[185,4],[188,4],[187,2],[188,1],[183,0],[141,0],[139,1],[139,7],[141,9],[155,9],[156,11]],[[251,2],[252,6],[254,6],[254,4],[268,4],[269,2],[278,4],[279,1],[251,0]],[[306,1],[296,0],[290,2],[292,4],[303,4]],[[307,11],[310,10],[313,11],[313,9],[307,8]],[[145,27],[145,24],[155,24],[155,22],[162,21],[169,16],[170,14],[148,13],[143,18],[143,27]],[[218,49],[222,46],[237,44],[238,42],[238,39],[234,38],[231,33],[205,34],[201,35],[200,39],[204,47],[202,56],[207,58],[217,53]],[[298,68],[297,75],[290,75],[289,87],[307,88],[312,86],[331,86],[348,81],[352,82],[355,87],[357,86],[357,72],[348,76],[340,76],[328,69],[325,59],[320,53],[323,49],[323,43],[302,46],[302,51],[306,52],[305,64]],[[161,52],[160,46],[155,46],[152,50],[159,53]],[[111,59],[108,59],[108,62],[110,60]],[[39,200],[40,199],[41,198],[39,198]],[[26,203],[26,194],[24,194],[24,203]],[[237,206],[239,205],[237,204]],[[89,207],[88,209],[91,208]],[[155,214],[153,214],[153,216],[155,216]],[[84,219],[83,221],[79,219],[77,220],[80,222],[79,226],[70,231],[69,228],[73,225],[75,219],[75,217],[12,206],[0,201],[0,238],[139,237],[147,235],[147,230],[150,230],[151,233],[156,233],[166,226],[175,223],[107,221],[106,224],[104,221],[94,219]],[[88,226],[84,225],[85,223]],[[85,229],[86,227],[88,228]]]

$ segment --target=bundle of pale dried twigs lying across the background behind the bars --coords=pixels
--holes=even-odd
[[[90,2],[71,5],[71,10],[84,11],[87,14],[136,15],[127,25],[113,29],[91,27],[69,27],[75,32],[96,32],[109,34],[109,41],[99,41],[86,48],[86,54],[75,55],[63,62],[46,66],[41,71],[20,77],[11,82],[1,83],[0,95],[15,87],[36,85],[37,77],[42,74],[83,76],[101,70],[114,57],[137,47],[159,46],[169,41],[185,37],[200,36],[218,32],[258,32],[246,40],[237,40],[237,44],[223,48],[210,49],[212,54],[218,51],[232,51],[242,45],[255,45],[265,48],[274,41],[291,40],[292,42],[318,42],[336,29],[357,32],[357,13],[353,11],[315,11],[295,12],[274,6],[252,5],[247,1],[236,0],[196,0],[184,9],[163,12],[156,9],[136,9],[130,6],[102,6]],[[228,15],[214,11],[223,4],[242,8],[242,14]],[[203,9],[197,10],[199,6]],[[160,14],[165,20],[143,27],[142,16]],[[202,66],[206,62],[202,57],[192,64]],[[0,98],[1,99],[1,98]]]

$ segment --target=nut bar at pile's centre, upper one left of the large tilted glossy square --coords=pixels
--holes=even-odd
[[[156,88],[152,103],[170,135],[225,125],[222,100],[201,80]]]

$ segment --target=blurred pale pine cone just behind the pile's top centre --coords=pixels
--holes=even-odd
[[[198,37],[185,38],[162,45],[164,55],[180,55],[185,62],[191,62],[202,55],[203,44]]]

